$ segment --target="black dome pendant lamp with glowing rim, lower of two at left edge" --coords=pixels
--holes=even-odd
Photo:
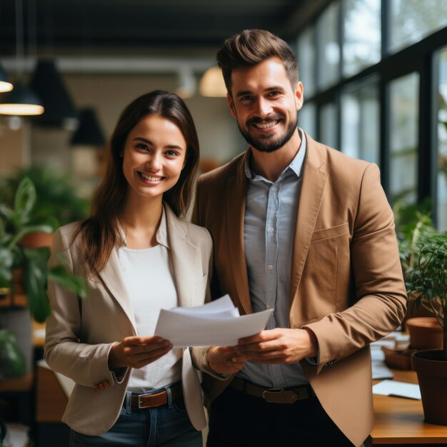
[[[39,97],[27,89],[20,81],[14,89],[6,94],[0,94],[0,114],[11,116],[31,116],[44,113]]]

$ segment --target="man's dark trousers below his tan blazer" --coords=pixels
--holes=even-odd
[[[211,404],[207,447],[352,447],[316,397],[268,403],[229,386]]]

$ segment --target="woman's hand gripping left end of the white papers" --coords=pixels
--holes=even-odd
[[[171,351],[172,343],[158,336],[126,337],[109,352],[109,369],[142,368]]]

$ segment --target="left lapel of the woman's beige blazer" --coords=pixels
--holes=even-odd
[[[99,276],[101,276],[106,288],[109,289],[110,293],[123,308],[127,318],[129,318],[136,331],[134,311],[132,310],[131,300],[127,294],[124,279],[121,275],[121,268],[119,266],[116,249],[111,251],[109,261],[107,261],[106,266],[99,272]]]

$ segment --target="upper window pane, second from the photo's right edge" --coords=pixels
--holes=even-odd
[[[352,76],[381,60],[381,0],[345,0],[343,74]]]

